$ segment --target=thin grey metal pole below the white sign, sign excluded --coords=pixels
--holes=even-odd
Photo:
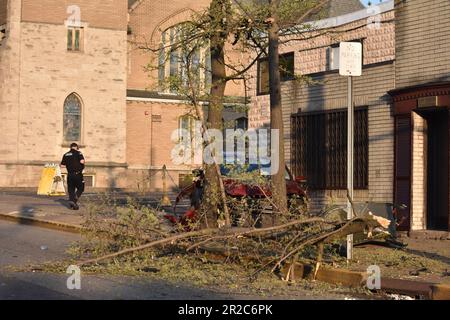
[[[353,201],[353,149],[354,149],[354,105],[353,105],[353,77],[348,77],[348,132],[347,132],[347,192]],[[347,199],[347,219],[353,219],[353,210]],[[353,235],[347,236],[347,260],[353,259]]]

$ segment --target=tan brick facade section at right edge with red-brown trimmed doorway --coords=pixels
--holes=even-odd
[[[396,3],[394,201],[404,229],[450,230],[450,3]]]

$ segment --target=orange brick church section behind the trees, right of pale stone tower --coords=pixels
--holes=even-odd
[[[145,70],[149,63],[158,64],[158,55],[137,49],[139,46],[158,47],[166,44],[173,36],[174,26],[191,19],[193,12],[205,9],[210,1],[139,1],[129,2],[129,65],[127,91],[127,162],[128,169],[136,174],[134,180],[150,183],[148,187],[160,187],[161,173],[157,170],[167,165],[171,172],[171,184],[182,180],[183,175],[190,172],[191,167],[174,165],[171,151],[175,143],[170,141],[171,133],[177,129],[180,122],[187,120],[186,114],[192,113],[192,107],[180,104],[183,97],[175,92],[161,90],[158,80],[161,73],[170,75],[173,65],[166,61],[164,66],[150,71]],[[171,33],[172,32],[172,33]],[[207,51],[200,54],[200,60],[206,65]],[[239,52],[234,55],[236,62],[241,57]],[[207,75],[200,79],[206,82]],[[234,111],[244,109],[244,87],[239,83],[230,82],[225,92],[226,110],[224,121],[238,124],[240,120],[246,123],[246,112]],[[242,107],[242,108],[241,108]],[[143,128],[145,128],[143,130]],[[180,178],[181,175],[181,178]],[[148,177],[151,177],[148,179]]]

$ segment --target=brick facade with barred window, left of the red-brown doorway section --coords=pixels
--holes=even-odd
[[[359,2],[355,3],[358,9]],[[355,198],[392,201],[394,138],[387,92],[395,80],[394,10],[392,5],[381,6],[379,24],[371,27],[367,26],[370,11],[352,11],[320,21],[314,31],[318,35],[310,40],[282,47],[282,56],[292,57],[294,73],[306,78],[285,79],[282,103],[287,163],[296,175],[306,177],[313,211],[346,201],[347,79],[339,75],[341,41],[361,42],[364,56],[363,76],[355,77],[353,85],[357,110]],[[258,75],[256,82],[262,78]],[[261,87],[254,84],[251,127],[270,121],[269,96],[260,92]]]

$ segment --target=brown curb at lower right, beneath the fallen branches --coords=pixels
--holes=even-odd
[[[285,264],[281,269],[284,278],[286,278],[290,266],[290,264]],[[296,263],[289,275],[289,279],[295,280],[312,277],[313,272],[313,266]],[[317,272],[316,279],[330,284],[356,288],[365,286],[367,273],[322,267]],[[381,278],[381,289],[379,291],[413,297],[424,297],[430,300],[450,300],[450,286],[430,282]]]

